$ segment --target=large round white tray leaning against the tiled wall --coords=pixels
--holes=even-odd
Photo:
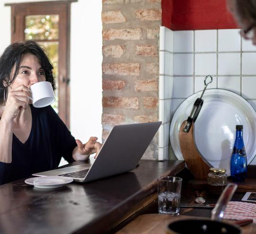
[[[183,160],[179,143],[179,130],[188,118],[197,92],[177,108],[170,126],[170,141],[175,156]],[[243,125],[243,139],[247,164],[256,155],[256,111],[242,96],[225,89],[208,89],[202,99],[201,111],[195,121],[194,139],[204,159],[213,167],[222,167],[230,175],[230,157],[236,138],[236,125]]]

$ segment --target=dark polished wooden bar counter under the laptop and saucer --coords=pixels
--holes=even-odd
[[[158,177],[184,167],[184,161],[141,160],[131,172],[54,190],[25,179],[1,185],[0,233],[107,233],[156,199]]]

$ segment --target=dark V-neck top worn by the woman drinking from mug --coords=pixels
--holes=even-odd
[[[23,144],[13,134],[12,162],[0,162],[0,184],[51,170],[59,165],[62,156],[69,163],[74,161],[75,139],[53,108],[35,108],[33,105],[30,108],[30,135]]]

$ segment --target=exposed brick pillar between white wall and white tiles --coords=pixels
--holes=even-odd
[[[102,140],[116,124],[158,121],[161,0],[102,0]],[[144,158],[157,159],[155,136]]]

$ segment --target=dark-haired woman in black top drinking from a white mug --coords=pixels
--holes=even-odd
[[[51,106],[31,105],[29,87],[49,81],[55,89],[53,66],[34,41],[13,43],[0,57],[0,184],[86,160],[101,143],[91,137],[75,140]]]

